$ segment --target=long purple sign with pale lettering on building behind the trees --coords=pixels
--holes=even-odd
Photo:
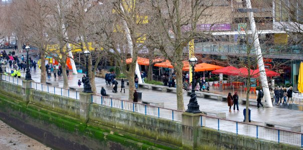
[[[182,31],[191,30],[191,24],[183,25],[181,27]],[[231,30],[230,24],[197,24],[196,29],[198,31],[207,31],[207,30]]]

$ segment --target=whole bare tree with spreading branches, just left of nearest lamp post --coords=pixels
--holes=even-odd
[[[213,2],[213,0],[149,0],[148,3],[150,9],[146,13],[153,16],[153,19],[149,22],[146,33],[148,36],[157,38],[148,41],[150,43],[147,44],[157,47],[174,67],[177,79],[178,110],[184,110],[183,49],[190,40],[207,36],[207,33],[197,30],[197,24],[217,22],[218,19],[211,17],[211,14],[215,14],[210,9]],[[157,30],[151,30],[151,28],[157,28]]]

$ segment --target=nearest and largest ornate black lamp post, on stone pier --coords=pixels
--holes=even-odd
[[[192,56],[189,59],[189,64],[192,67],[192,81],[191,81],[191,94],[190,94],[190,100],[187,104],[187,110],[186,112],[189,113],[200,113],[198,101],[197,101],[197,95],[195,93],[195,87],[196,87],[196,79],[195,79],[195,65],[197,64],[198,59],[195,56]]]

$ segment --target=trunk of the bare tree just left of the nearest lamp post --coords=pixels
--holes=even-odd
[[[178,110],[184,111],[184,101],[183,101],[183,85],[182,85],[182,67],[183,64],[181,62],[177,62],[176,70],[176,79],[177,79],[177,108]]]

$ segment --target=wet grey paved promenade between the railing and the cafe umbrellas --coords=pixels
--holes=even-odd
[[[40,69],[37,72],[32,72],[32,78],[36,82],[40,82]],[[54,74],[52,74],[54,75]],[[78,79],[82,79],[83,73],[72,74],[70,71],[69,85],[70,86],[78,86]],[[49,79],[47,79],[49,80]],[[57,79],[52,76],[51,81],[59,81],[59,86],[63,87],[63,79]],[[118,94],[121,94],[121,99],[128,98],[128,86],[126,86],[125,93],[120,93],[120,81],[118,80]],[[83,84],[81,85],[83,87]],[[96,77],[96,86],[97,91],[100,94],[101,86],[104,86],[107,93],[112,93],[112,87],[105,86],[105,80],[100,77]],[[139,88],[139,91],[143,91],[142,99],[152,102],[164,102],[164,107],[177,109],[176,104],[176,94],[171,92],[163,92],[145,88]],[[184,105],[187,108],[187,104],[189,102],[189,96],[186,95],[186,92],[183,92],[184,97]],[[236,121],[243,121],[243,108],[245,105],[239,104],[240,112],[232,111],[228,112],[228,106],[226,101],[219,101],[213,99],[206,98],[197,98],[198,103],[200,105],[200,110],[214,110],[220,112],[226,112],[226,118]],[[287,108],[282,108],[280,106],[273,106],[272,108],[257,108],[256,106],[249,106],[251,110],[251,120],[253,123],[258,125],[264,125],[265,121],[280,121],[280,122],[288,122],[293,124],[303,124],[303,111],[299,110],[291,110]]]

